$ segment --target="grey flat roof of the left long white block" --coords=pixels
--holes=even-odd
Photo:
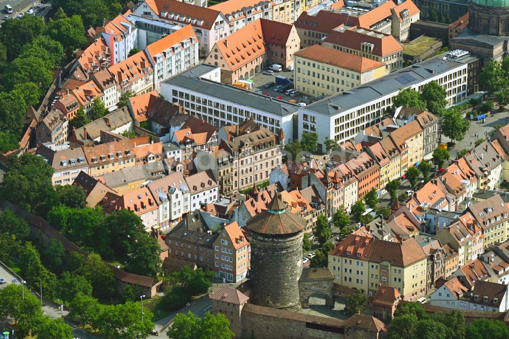
[[[232,104],[259,109],[280,117],[293,115],[299,109],[296,104],[249,92],[229,84],[199,78],[204,73],[211,71],[210,68],[205,71],[207,66],[210,65],[198,65],[189,71],[164,80],[163,83],[229,101]]]

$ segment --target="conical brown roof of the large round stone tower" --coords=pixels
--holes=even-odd
[[[249,231],[261,234],[292,234],[299,233],[306,228],[307,221],[296,214],[288,212],[282,201],[281,193],[274,194],[267,205],[268,210],[255,215],[247,221]]]

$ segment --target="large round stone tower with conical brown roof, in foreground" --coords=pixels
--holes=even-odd
[[[251,236],[251,302],[298,311],[306,220],[287,211],[280,193],[267,207],[246,224]]]

